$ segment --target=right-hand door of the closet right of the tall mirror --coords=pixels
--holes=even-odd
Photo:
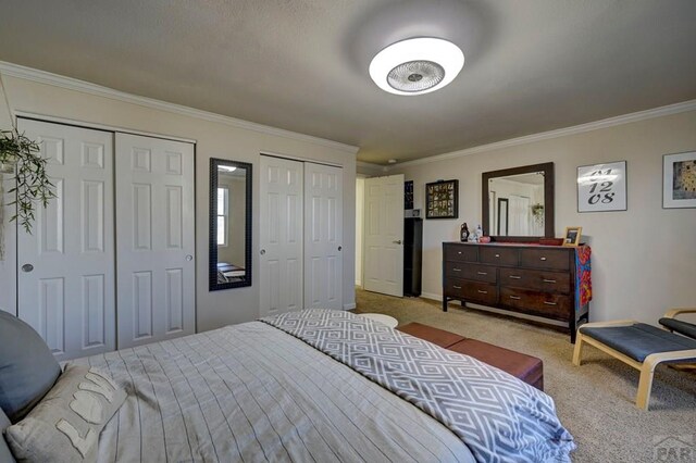
[[[343,168],[304,163],[304,308],[343,310]]]

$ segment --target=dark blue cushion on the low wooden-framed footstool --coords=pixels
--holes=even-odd
[[[630,326],[581,326],[580,331],[641,363],[651,353],[696,349],[696,340],[645,323]]]

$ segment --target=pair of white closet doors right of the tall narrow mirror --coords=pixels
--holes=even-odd
[[[343,309],[343,170],[261,157],[261,316]]]

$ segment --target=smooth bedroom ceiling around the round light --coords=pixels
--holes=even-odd
[[[693,0],[3,0],[0,60],[360,147],[386,164],[696,99]],[[395,41],[464,52],[377,88]]]

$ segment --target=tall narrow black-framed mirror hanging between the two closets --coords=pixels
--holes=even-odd
[[[251,164],[210,160],[209,289],[251,286]]]

